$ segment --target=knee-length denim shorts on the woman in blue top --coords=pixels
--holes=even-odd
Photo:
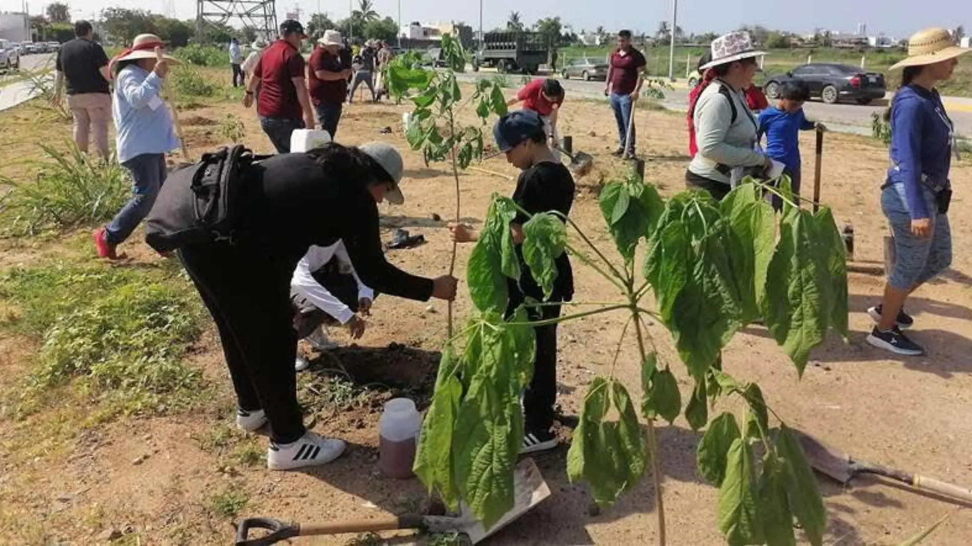
[[[912,219],[902,184],[890,184],[881,193],[881,208],[894,233],[894,266],[887,282],[898,290],[910,290],[952,265],[949,217],[938,212],[935,194],[930,189],[922,187],[921,197],[932,221],[933,233],[929,239],[912,234]]]

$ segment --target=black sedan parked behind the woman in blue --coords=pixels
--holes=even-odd
[[[791,80],[806,83],[810,87],[810,95],[820,97],[828,105],[845,99],[866,105],[875,99],[885,98],[887,92],[883,74],[833,63],[805,64],[786,74],[777,74],[766,80],[763,90],[768,98],[780,98],[783,83]]]

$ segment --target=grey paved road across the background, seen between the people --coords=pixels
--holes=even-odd
[[[460,75],[462,80],[481,80],[493,78],[495,73],[477,72]],[[510,75],[509,80],[515,85],[523,78]],[[587,99],[604,99],[604,81],[561,80],[564,87],[574,96]],[[676,88],[665,91],[664,105],[669,110],[684,112],[687,110],[688,90]],[[972,138],[972,99],[950,99],[946,104],[949,115],[955,122],[955,132]],[[829,128],[844,133],[861,135],[871,134],[871,115],[874,112],[884,112],[884,106],[859,106],[851,104],[825,105],[820,102],[810,102],[804,107],[807,115],[826,123]]]

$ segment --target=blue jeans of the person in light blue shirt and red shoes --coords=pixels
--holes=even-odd
[[[121,163],[131,173],[132,196],[119,210],[112,221],[105,226],[105,240],[110,244],[121,244],[138,224],[149,215],[156,203],[158,190],[165,180],[165,154],[143,153]]]

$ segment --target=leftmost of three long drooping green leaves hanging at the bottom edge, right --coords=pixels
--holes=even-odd
[[[730,546],[763,543],[752,449],[736,437],[726,454],[725,476],[719,487],[718,526]]]

